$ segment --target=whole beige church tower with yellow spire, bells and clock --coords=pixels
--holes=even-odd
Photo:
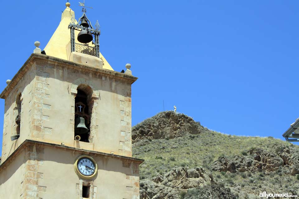
[[[99,51],[84,4],[66,3],[45,49],[0,94],[5,99],[0,193],[7,199],[138,199],[132,157],[131,65],[116,72]]]

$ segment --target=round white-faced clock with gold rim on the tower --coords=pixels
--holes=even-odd
[[[88,155],[78,157],[74,168],[78,176],[83,179],[91,179],[97,174],[97,163]]]

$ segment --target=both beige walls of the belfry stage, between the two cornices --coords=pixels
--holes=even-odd
[[[5,100],[2,161],[26,139],[132,156],[131,82],[57,59],[34,59],[28,65]],[[89,143],[74,141],[78,86],[92,89]],[[20,138],[11,141],[18,93],[22,94]]]

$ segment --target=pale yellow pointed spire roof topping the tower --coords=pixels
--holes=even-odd
[[[48,44],[45,47],[45,52],[49,56],[53,56],[60,59],[69,60],[70,53],[71,53],[71,46],[70,46],[70,30],[68,28],[71,20],[75,20],[75,23],[78,23],[75,19],[75,12],[70,8],[70,3],[67,2],[65,4],[66,8],[62,12],[61,21],[55,30],[54,34],[52,35],[51,39],[49,40]],[[73,16],[73,19],[72,19]],[[79,43],[77,40],[78,31],[75,31],[75,42]],[[91,43],[88,45],[92,46]],[[100,59],[103,61],[103,68],[112,70],[112,67],[107,62],[107,60],[103,57],[100,53]]]

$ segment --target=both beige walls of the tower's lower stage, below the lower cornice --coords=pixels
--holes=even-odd
[[[0,193],[7,199],[82,199],[82,185],[93,199],[138,199],[139,163],[124,158],[89,154],[97,162],[97,175],[80,179],[74,162],[81,151],[30,144],[0,167]]]

